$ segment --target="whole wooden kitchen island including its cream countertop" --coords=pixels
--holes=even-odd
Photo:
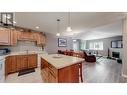
[[[84,59],[60,54],[41,55],[41,76],[46,83],[83,82]]]

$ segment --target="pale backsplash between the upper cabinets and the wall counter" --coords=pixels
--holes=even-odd
[[[9,48],[11,52],[42,51],[42,47],[37,47],[36,43],[31,41],[18,41],[16,46],[0,46],[0,48]]]

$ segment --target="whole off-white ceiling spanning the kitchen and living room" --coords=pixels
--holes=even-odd
[[[125,13],[116,12],[72,12],[71,27],[75,33],[73,37],[89,38],[90,33],[98,35],[98,33],[111,36],[113,33],[119,34],[121,28],[122,18]],[[30,28],[37,31],[57,33],[57,19],[60,19],[60,32],[63,36],[68,36],[70,33],[66,32],[68,25],[68,13],[67,12],[16,12],[15,21],[17,26]],[[113,24],[112,24],[113,23]],[[106,26],[107,25],[107,26]],[[39,26],[39,29],[35,27]],[[104,27],[103,27],[104,26]],[[105,27],[106,26],[106,27]],[[93,31],[94,30],[94,31]],[[99,31],[99,32],[97,32]],[[109,32],[110,33],[107,33]],[[93,33],[94,32],[94,33]],[[78,34],[77,34],[78,33]],[[86,34],[85,34],[86,33]],[[87,36],[85,36],[87,35]],[[100,35],[100,34],[99,34]],[[93,38],[91,36],[91,38]]]

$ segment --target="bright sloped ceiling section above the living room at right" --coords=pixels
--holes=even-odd
[[[93,40],[121,35],[122,35],[122,20],[91,29],[90,31],[84,33],[80,33],[79,35],[76,36],[76,38],[80,37],[81,39],[84,40]]]

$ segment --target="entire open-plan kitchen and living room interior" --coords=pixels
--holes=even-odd
[[[127,83],[124,12],[1,12],[1,83]]]

